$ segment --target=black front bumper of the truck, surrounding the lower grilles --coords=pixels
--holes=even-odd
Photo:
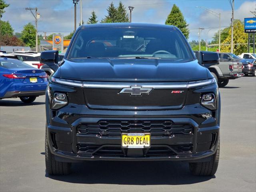
[[[72,110],[80,113],[72,114]],[[197,110],[198,113],[202,114],[209,112],[209,110],[200,105],[191,105],[185,106],[181,110],[154,111],[155,115],[148,115],[152,113],[150,111],[140,111],[138,112],[140,116],[134,117],[127,115],[130,111],[115,111],[110,114],[108,110],[91,110],[85,106],[73,104],[59,110],[58,113],[54,114],[53,118],[49,118],[47,115],[46,126],[49,148],[52,154],[55,155],[56,160],[62,162],[81,160],[180,160],[198,162],[205,160],[205,158],[216,152],[219,138],[218,117],[220,111],[218,110],[215,117],[203,119],[200,115],[186,115],[191,110]],[[70,113],[68,114],[67,111],[70,111]],[[134,111],[132,112],[134,113]],[[79,127],[85,124],[90,124],[90,128],[93,129],[101,120],[126,122],[133,120],[164,120],[171,121],[174,125],[189,124],[192,126],[193,131],[191,134],[152,135],[151,148],[149,150],[124,149],[121,148],[120,136],[108,136],[102,132],[95,133],[95,135],[81,134],[78,131]],[[196,122],[196,120],[198,121]],[[64,125],[65,122],[66,126],[58,126],[59,123]],[[69,125],[68,122],[72,123]],[[94,133],[95,131],[92,129],[88,130],[88,132]],[[80,150],[80,148],[85,148],[86,150]],[[183,148],[186,148],[186,150]]]

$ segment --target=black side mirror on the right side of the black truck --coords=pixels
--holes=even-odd
[[[198,51],[195,53],[198,62],[209,68],[212,65],[220,64],[219,54],[211,51]]]

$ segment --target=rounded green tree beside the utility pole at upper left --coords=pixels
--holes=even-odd
[[[20,39],[26,44],[26,46],[30,46],[31,48],[36,46],[36,28],[32,23],[28,23],[24,26],[22,30],[22,35]],[[38,39],[38,44],[40,43]]]

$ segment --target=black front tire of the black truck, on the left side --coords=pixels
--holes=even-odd
[[[55,160],[54,155],[51,153],[48,140],[47,130],[45,129],[45,165],[46,172],[49,175],[68,175],[71,173],[71,163],[58,162]]]

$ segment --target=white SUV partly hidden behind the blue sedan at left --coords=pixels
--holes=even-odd
[[[40,69],[44,64],[39,61],[40,53],[34,51],[15,51],[12,55],[18,56],[18,59],[34,68]]]

